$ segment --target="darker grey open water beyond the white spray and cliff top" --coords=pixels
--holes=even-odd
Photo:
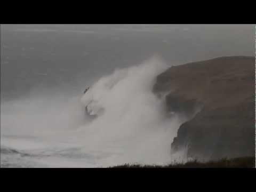
[[[1,25],[1,94],[60,84],[79,92],[153,54],[169,65],[253,56],[254,36],[254,25]]]

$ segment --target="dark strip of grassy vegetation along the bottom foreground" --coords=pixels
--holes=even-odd
[[[231,159],[221,159],[219,161],[209,161],[209,162],[198,162],[189,161],[187,163],[173,163],[169,165],[140,165],[140,164],[124,164],[118,165],[110,168],[232,168],[232,167],[241,167],[241,168],[251,168],[255,167],[255,157],[239,157]]]

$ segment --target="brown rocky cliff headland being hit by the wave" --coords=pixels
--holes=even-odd
[[[254,67],[253,57],[222,57],[157,76],[153,91],[169,92],[167,109],[190,115],[173,151],[187,147],[187,155],[198,159],[255,156]]]

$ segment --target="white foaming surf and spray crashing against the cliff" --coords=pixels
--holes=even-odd
[[[184,160],[182,151],[171,155],[182,119],[167,117],[164,99],[152,92],[156,76],[168,67],[154,56],[101,77],[83,97],[50,92],[1,103],[1,148],[19,151],[1,154],[1,165],[106,167]],[[94,119],[85,114],[90,101],[98,114]]]

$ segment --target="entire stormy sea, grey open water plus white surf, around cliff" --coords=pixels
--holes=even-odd
[[[156,76],[186,62],[253,55],[253,30],[1,25],[1,167],[186,161],[186,151],[171,155],[170,147],[186,119],[166,115],[151,91]]]

